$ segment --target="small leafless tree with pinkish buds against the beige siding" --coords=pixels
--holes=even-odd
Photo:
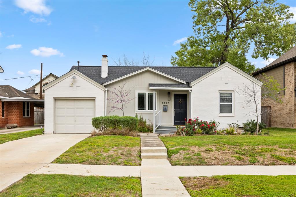
[[[134,99],[129,97],[132,93],[134,86],[127,89],[125,88],[126,83],[128,83],[128,81],[126,81],[122,86],[113,87],[112,90],[109,90],[111,96],[107,100],[110,104],[112,104],[112,106],[109,106],[111,109],[108,113],[121,110],[124,116],[123,109],[126,107],[126,104],[129,104]]]

